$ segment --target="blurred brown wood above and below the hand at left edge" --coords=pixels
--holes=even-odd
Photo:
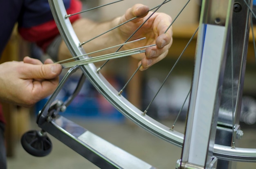
[[[15,28],[7,46],[2,53],[0,63],[20,60],[20,55],[23,55],[25,50],[25,48],[20,50],[20,45],[20,37],[18,36]],[[22,46],[25,46],[25,43],[22,43]],[[20,136],[29,129],[29,110],[27,108],[21,108],[17,105],[11,105],[9,103],[1,104],[6,120],[5,140],[7,156],[10,157],[15,155],[16,141],[20,141]]]

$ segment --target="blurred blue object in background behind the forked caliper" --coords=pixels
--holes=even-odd
[[[112,83],[121,86],[118,78],[111,78]],[[56,99],[65,101],[74,91],[79,81],[78,77],[70,77],[64,84]],[[123,93],[125,94],[125,92]],[[36,103],[36,114],[43,108],[47,100],[43,99]],[[104,119],[110,121],[123,122],[124,116],[117,111],[99,92],[92,86],[89,81],[85,81],[79,94],[74,98],[72,103],[67,106],[65,112],[60,115],[67,118],[79,119]]]

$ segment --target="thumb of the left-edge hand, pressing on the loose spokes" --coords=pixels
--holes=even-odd
[[[24,64],[22,75],[24,79],[54,79],[60,75],[62,66],[60,64]]]

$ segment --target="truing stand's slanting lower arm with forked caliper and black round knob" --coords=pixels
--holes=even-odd
[[[46,131],[52,136],[56,137],[65,145],[102,169],[155,169],[155,167],[147,164],[135,156],[132,156],[119,147],[108,143],[106,140],[103,140],[99,136],[59,114],[59,112],[65,111],[66,107],[74,99],[74,97],[76,97],[76,94],[78,94],[83,82],[85,81],[85,76],[82,75],[76,90],[74,90],[74,93],[67,99],[67,101],[63,102],[55,100],[68,77],[70,77],[70,75],[72,75],[72,73],[74,73],[78,68],[79,66],[71,68],[63,77],[55,92],[49,98],[43,109],[39,112],[37,118],[38,126],[42,129],[42,131]],[[41,133],[36,131],[33,132]],[[45,156],[49,154],[51,149],[42,151],[31,146],[29,139],[25,138],[25,136],[29,135],[29,133],[31,133],[31,131],[26,133],[23,136],[24,139],[22,139],[22,145],[26,151],[34,156]],[[38,136],[38,138],[40,140],[41,136]],[[49,138],[47,138],[47,140],[49,140]]]

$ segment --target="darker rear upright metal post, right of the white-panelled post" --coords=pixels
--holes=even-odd
[[[252,0],[246,1],[252,7]],[[250,11],[244,0],[235,0],[233,6],[234,12],[231,26],[232,35],[229,38],[228,44],[227,62],[222,85],[218,126],[215,139],[216,144],[226,146],[237,145],[237,143],[232,145],[232,142],[236,141],[233,140],[233,134],[235,134],[234,138],[236,138],[236,133],[240,131],[239,116],[241,111],[242,90],[250,28]],[[231,61],[233,61],[233,66],[231,66]],[[233,70],[231,69],[232,67]],[[232,118],[233,112],[234,122]],[[233,125],[235,131],[233,131]],[[240,136],[238,136],[238,138],[240,138]],[[218,160],[217,169],[235,168],[236,162]]]

